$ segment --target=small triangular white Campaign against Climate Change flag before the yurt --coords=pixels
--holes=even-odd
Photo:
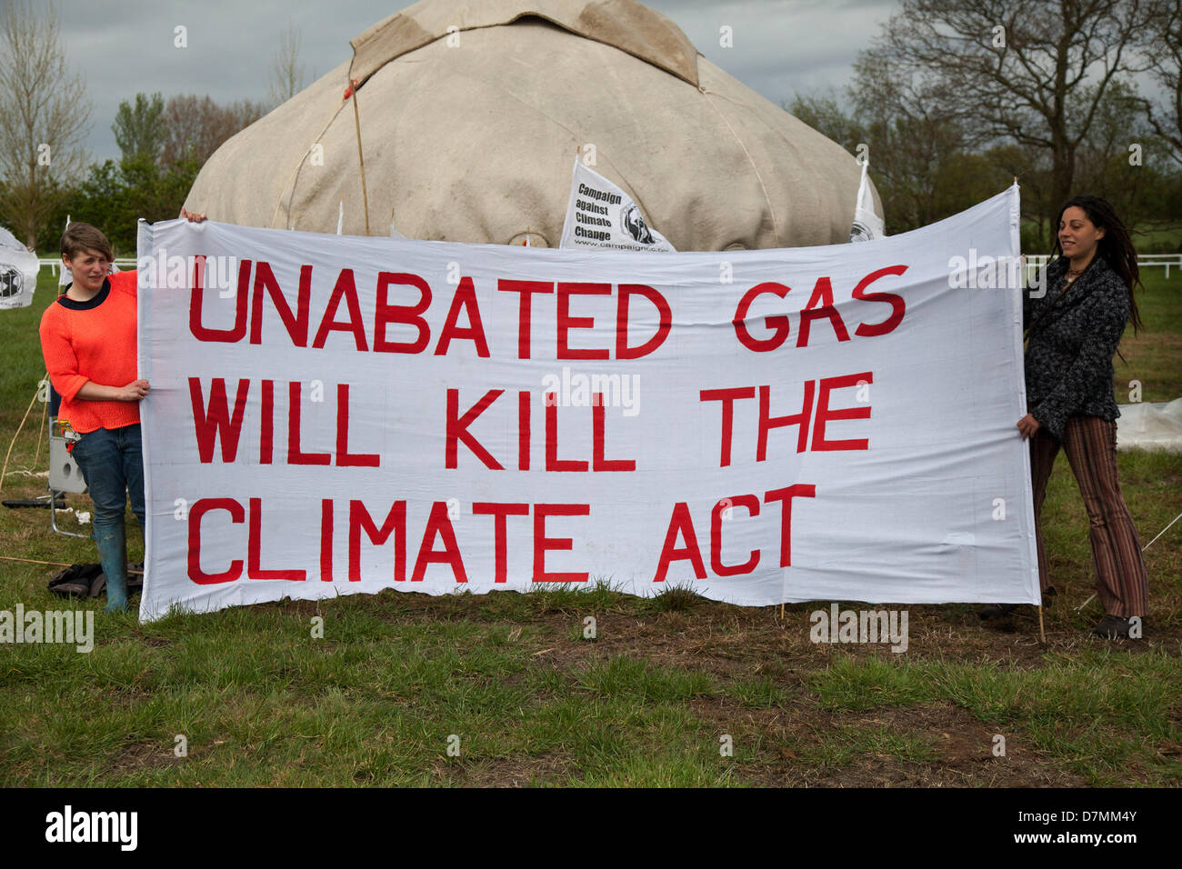
[[[644,222],[631,196],[577,157],[558,246],[564,249],[674,252],[668,239]]]

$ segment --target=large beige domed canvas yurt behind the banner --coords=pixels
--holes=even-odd
[[[186,206],[335,232],[344,202],[346,234],[366,234],[368,210],[371,235],[504,245],[528,231],[557,247],[583,155],[678,251],[850,236],[855,158],[635,0],[423,0],[351,45],[228,140]]]

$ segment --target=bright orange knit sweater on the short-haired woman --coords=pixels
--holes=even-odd
[[[136,380],[136,311],[131,271],[111,274],[90,301],[60,296],[41,314],[41,355],[61,395],[58,419],[69,420],[76,432],[139,422],[139,402],[77,397],[87,381],[123,387]]]

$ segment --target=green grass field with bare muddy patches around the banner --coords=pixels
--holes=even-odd
[[[1144,401],[1182,396],[1182,274],[1145,278],[1148,329],[1122,345],[1121,402],[1132,380]],[[52,286],[43,273],[32,309],[0,312],[2,448],[41,377]],[[17,442],[18,471],[45,468],[38,420]],[[1148,543],[1182,511],[1182,456],[1119,465]],[[18,474],[4,497],[44,487]],[[1129,643],[1089,635],[1095,601],[1076,611],[1093,578],[1061,459],[1045,519],[1061,591],[1045,646],[1031,608],[989,630],[974,605],[909,607],[909,648],[892,654],[810,642],[818,604],[780,621],[778,608],[606,585],[390,591],[144,625],[77,604],[97,610],[92,653],[0,644],[0,784],[1182,784],[1182,521],[1145,553],[1151,614],[1147,638]],[[95,560],[90,541],[47,523],[44,510],[0,510],[0,555]],[[0,609],[61,609],[45,590],[53,571],[0,562]]]

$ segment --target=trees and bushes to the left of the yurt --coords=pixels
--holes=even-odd
[[[298,33],[281,34],[273,99],[303,86]],[[177,216],[201,166],[269,108],[208,96],[136,93],[111,131],[118,160],[91,162],[83,148],[93,106],[66,61],[52,0],[0,6],[0,223],[31,248],[57,248],[66,215],[104,228],[116,253],[134,254],[136,219]]]

